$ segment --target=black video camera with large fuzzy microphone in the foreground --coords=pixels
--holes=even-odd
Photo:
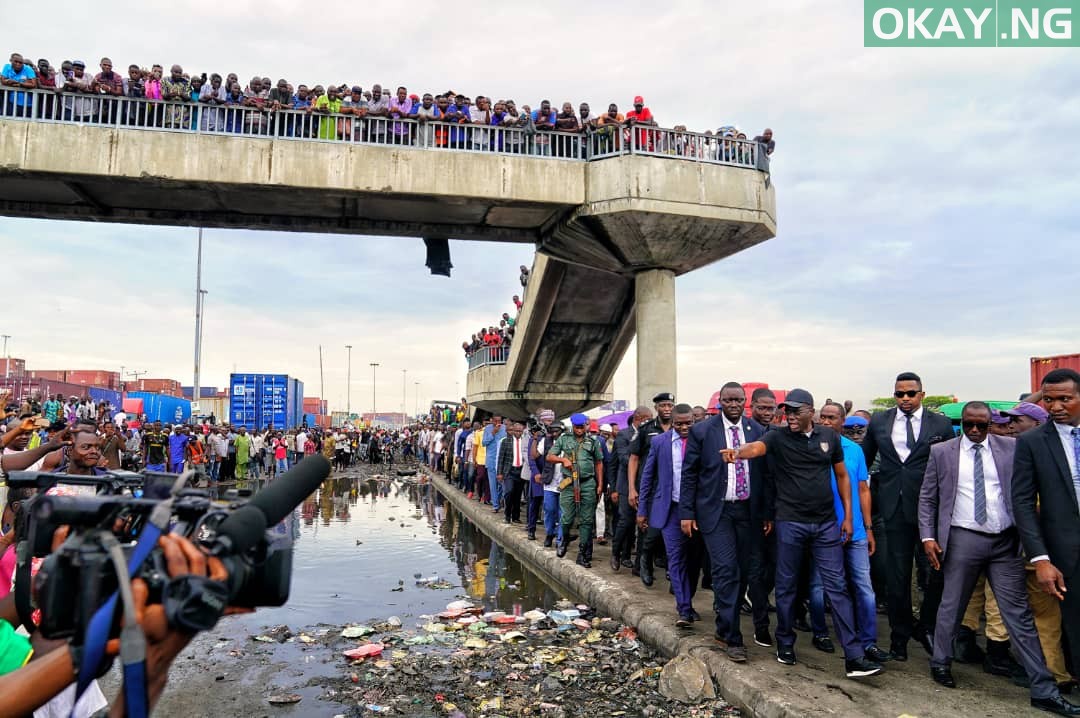
[[[62,486],[86,492],[39,493],[28,502],[28,520],[16,537],[16,571],[23,570],[25,577],[31,556],[44,558],[33,581],[42,635],[69,638],[73,646],[80,646],[91,619],[118,591],[116,564],[108,548],[113,542],[107,537],[119,542],[129,563],[138,555],[144,539],[156,544],[164,532],[184,536],[222,561],[229,574],[224,585],[195,577],[171,580],[161,548],[153,545],[149,553],[143,548],[145,560],[132,569],[132,577],[146,581],[148,602],[162,604],[170,624],[178,628],[207,631],[227,606],[284,605],[292,580],[293,543],[291,532],[273,528],[329,471],[323,457],[309,457],[254,497],[232,496],[225,501],[214,500],[205,490],[183,488],[183,480],[178,480],[183,477],[174,474],[12,472],[12,488]],[[163,497],[164,486],[172,490]],[[152,498],[154,495],[158,498]],[[63,526],[68,527],[67,539],[53,551],[53,536]],[[22,580],[16,579],[16,590]],[[24,607],[19,612],[24,613]],[[117,610],[112,617],[110,636],[119,635],[120,615]],[[28,621],[26,615],[21,618]]]

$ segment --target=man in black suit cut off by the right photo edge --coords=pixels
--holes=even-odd
[[[1036,580],[1062,602],[1062,625],[1080,647],[1080,374],[1042,380],[1051,421],[1021,434],[1013,464],[1013,514]]]

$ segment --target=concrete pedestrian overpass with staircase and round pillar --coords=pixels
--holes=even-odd
[[[754,143],[9,89],[0,215],[532,244],[512,351],[474,357],[467,395],[490,411],[561,415],[611,398],[635,334],[637,399],[675,389],[674,277],[777,229]]]

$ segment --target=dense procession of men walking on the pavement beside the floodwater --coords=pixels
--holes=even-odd
[[[568,428],[541,410],[434,422],[415,441],[529,540],[542,527],[558,556],[577,542],[591,569],[595,540],[610,542],[611,571],[647,587],[665,569],[677,626],[702,620],[691,601],[712,591],[733,662],[748,659],[746,614],[782,664],[797,660],[797,632],[840,650],[849,678],[908,661],[914,640],[945,688],[954,661],[976,663],[1028,688],[1034,707],[1080,715],[1062,697],[1080,669],[1080,374],[1050,372],[1009,410],[968,402],[957,426],[922,405],[916,374],[893,396],[870,414],[801,389],[778,406],[759,388],[747,410],[729,382],[707,409],[661,393],[625,426],[578,414]]]

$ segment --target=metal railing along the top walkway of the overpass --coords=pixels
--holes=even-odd
[[[726,164],[768,171],[758,143],[644,125],[604,125],[586,132],[537,131],[246,105],[178,103],[114,95],[0,89],[0,119],[85,124],[273,139],[348,143],[435,151],[527,154],[594,161],[623,154]]]

